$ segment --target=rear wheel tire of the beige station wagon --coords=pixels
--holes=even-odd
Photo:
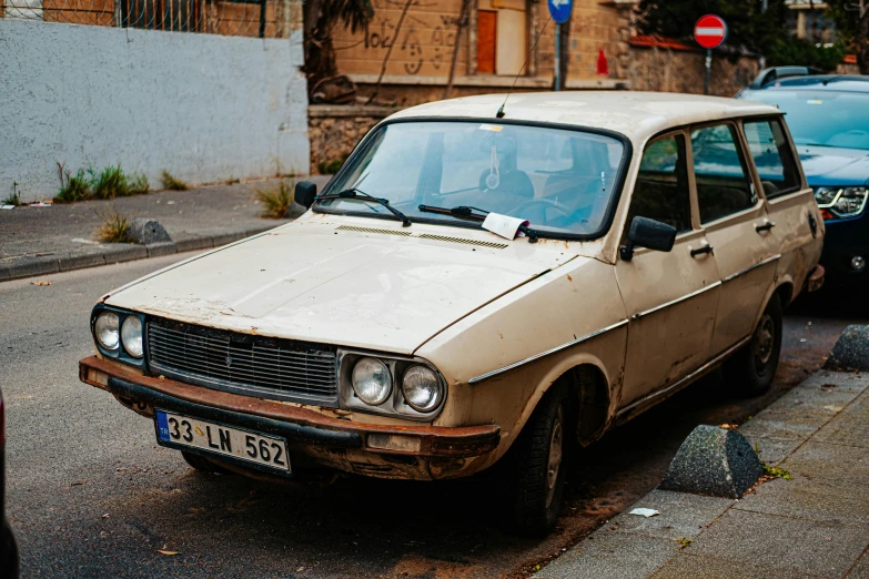
[[[772,295],[751,341],[724,363],[727,385],[741,396],[769,392],[781,353],[781,302]]]

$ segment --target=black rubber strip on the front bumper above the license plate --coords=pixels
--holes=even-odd
[[[215,420],[240,426],[242,428],[250,428],[251,430],[270,433],[292,440],[299,440],[300,443],[348,448],[358,448],[362,446],[362,437],[356,433],[313,428],[311,426],[283,423],[272,420],[271,418],[263,418],[261,416],[251,416],[250,414],[203,406],[201,404],[175,398],[174,396],[161,392],[152,390],[144,386],[139,386],[138,384],[121,378],[115,378],[114,376],[109,377],[109,392],[123,398],[150,404],[156,408],[165,408],[166,410],[195,416],[204,420]]]

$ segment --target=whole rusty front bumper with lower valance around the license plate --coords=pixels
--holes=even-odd
[[[497,425],[451,428],[355,423],[286,403],[143,376],[97,356],[79,362],[79,378],[144,416],[153,417],[156,407],[280,436],[302,467],[324,466],[380,478],[453,478],[488,466],[501,440]],[[413,449],[384,447],[390,440]]]

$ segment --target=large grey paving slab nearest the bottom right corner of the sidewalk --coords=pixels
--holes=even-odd
[[[801,520],[749,512],[737,506],[685,551],[795,573],[841,577],[867,545],[869,525]]]

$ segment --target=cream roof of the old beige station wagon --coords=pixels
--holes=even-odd
[[[499,121],[495,114],[506,94],[436,101],[404,109],[386,121],[413,118],[474,118]],[[749,115],[781,114],[775,106],[696,94],[635,91],[563,91],[513,93],[504,121],[556,123],[616,131],[633,142],[686,124]]]

